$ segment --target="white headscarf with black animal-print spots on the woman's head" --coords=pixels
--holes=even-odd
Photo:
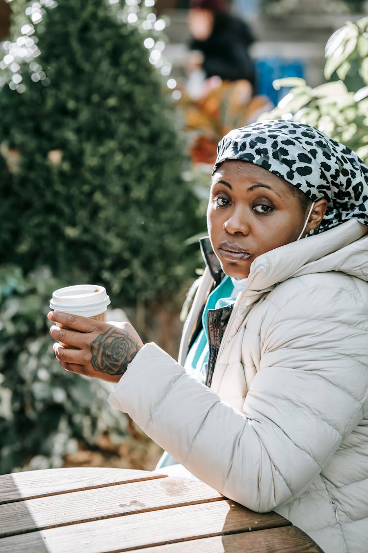
[[[343,144],[293,121],[264,121],[220,140],[214,172],[226,160],[249,161],[290,182],[312,201],[326,198],[317,232],[346,219],[368,225],[368,167]]]

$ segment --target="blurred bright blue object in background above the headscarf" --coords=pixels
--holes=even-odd
[[[267,96],[277,106],[290,88],[282,87],[275,90],[272,83],[275,79],[284,77],[301,77],[304,79],[305,67],[301,60],[285,60],[282,58],[255,59],[255,72],[257,76],[257,94]]]

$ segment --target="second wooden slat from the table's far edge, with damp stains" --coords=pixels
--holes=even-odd
[[[132,512],[223,500],[204,482],[156,478],[0,505],[0,537]],[[83,509],[81,509],[83,505]]]

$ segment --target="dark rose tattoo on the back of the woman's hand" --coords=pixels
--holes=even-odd
[[[109,328],[91,342],[91,364],[95,371],[124,374],[138,350],[134,338],[122,335],[116,328]]]

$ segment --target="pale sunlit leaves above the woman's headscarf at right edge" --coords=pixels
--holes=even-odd
[[[273,111],[260,119],[293,119],[306,123],[354,150],[368,162],[368,17],[335,32],[326,46],[326,79],[310,87],[303,79],[280,79],[275,88],[292,89]]]

